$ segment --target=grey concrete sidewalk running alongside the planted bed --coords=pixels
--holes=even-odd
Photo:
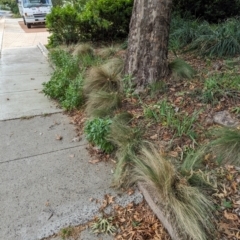
[[[88,221],[99,208],[90,198],[118,192],[110,189],[113,166],[89,164],[84,137],[73,141],[68,116],[41,93],[52,69],[28,36],[47,41],[46,34],[22,33],[15,19],[1,23],[0,239],[36,240]],[[141,194],[118,198],[133,200]],[[95,238],[85,232],[79,239]]]

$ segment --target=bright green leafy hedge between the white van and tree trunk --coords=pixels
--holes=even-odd
[[[50,45],[126,38],[133,0],[80,0],[56,6],[47,16]]]

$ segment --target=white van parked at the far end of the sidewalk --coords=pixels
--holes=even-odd
[[[51,12],[51,0],[17,0],[18,9],[24,24],[31,28],[33,24],[45,23],[46,15]]]

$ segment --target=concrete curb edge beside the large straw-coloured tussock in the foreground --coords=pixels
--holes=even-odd
[[[172,240],[182,240],[178,234],[174,226],[172,225],[172,222],[169,221],[169,216],[166,216],[166,213],[164,213],[161,208],[155,203],[153,200],[152,194],[150,194],[151,191],[149,191],[149,188],[143,184],[138,182],[138,188],[140,192],[143,194],[146,202],[148,203],[149,207],[152,209],[154,214],[157,216],[157,218],[160,220],[160,222],[163,224],[163,226],[168,231],[169,235],[171,236]]]

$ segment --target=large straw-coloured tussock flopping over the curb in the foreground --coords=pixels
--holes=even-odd
[[[186,239],[208,240],[213,232],[212,204],[196,187],[188,185],[174,166],[152,146],[143,147],[134,159],[134,180],[144,181],[155,188],[162,202],[167,203],[174,225]]]

